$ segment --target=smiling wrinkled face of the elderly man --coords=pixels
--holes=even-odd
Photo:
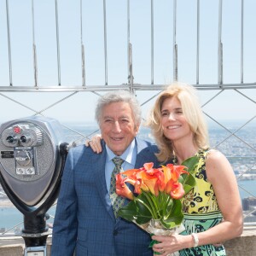
[[[129,103],[113,102],[102,109],[102,138],[114,154],[121,155],[136,137],[136,127]]]

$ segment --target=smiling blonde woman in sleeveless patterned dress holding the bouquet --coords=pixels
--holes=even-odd
[[[176,251],[180,256],[226,255],[219,243],[241,235],[241,199],[229,161],[209,147],[195,88],[170,85],[154,103],[148,126],[160,149],[160,162],[173,159],[180,165],[193,155],[200,157],[196,187],[183,199],[186,230],[180,235],[153,236],[160,242],[154,245],[154,251],[163,256]]]

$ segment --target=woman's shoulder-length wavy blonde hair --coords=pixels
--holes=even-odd
[[[201,106],[196,95],[196,90],[192,85],[173,83],[166,90],[163,90],[157,97],[154,107],[149,113],[147,126],[151,128],[155,143],[160,152],[156,154],[160,162],[166,162],[173,157],[172,141],[165,137],[161,125],[161,108],[167,98],[177,97],[181,103],[183,115],[187,120],[191,131],[194,133],[194,143],[197,148],[207,149],[208,131]]]

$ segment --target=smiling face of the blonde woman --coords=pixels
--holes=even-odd
[[[164,135],[175,143],[193,137],[189,124],[183,115],[181,103],[176,96],[166,98],[161,108],[161,125]]]

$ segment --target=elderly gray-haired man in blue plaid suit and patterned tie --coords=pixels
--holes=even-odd
[[[67,155],[51,255],[153,255],[148,248],[150,236],[115,214],[120,198],[115,194],[114,174],[145,162],[159,165],[154,155],[157,148],[136,137],[141,122],[136,97],[125,90],[107,93],[99,98],[96,120],[102,132],[102,153],[81,145]]]

